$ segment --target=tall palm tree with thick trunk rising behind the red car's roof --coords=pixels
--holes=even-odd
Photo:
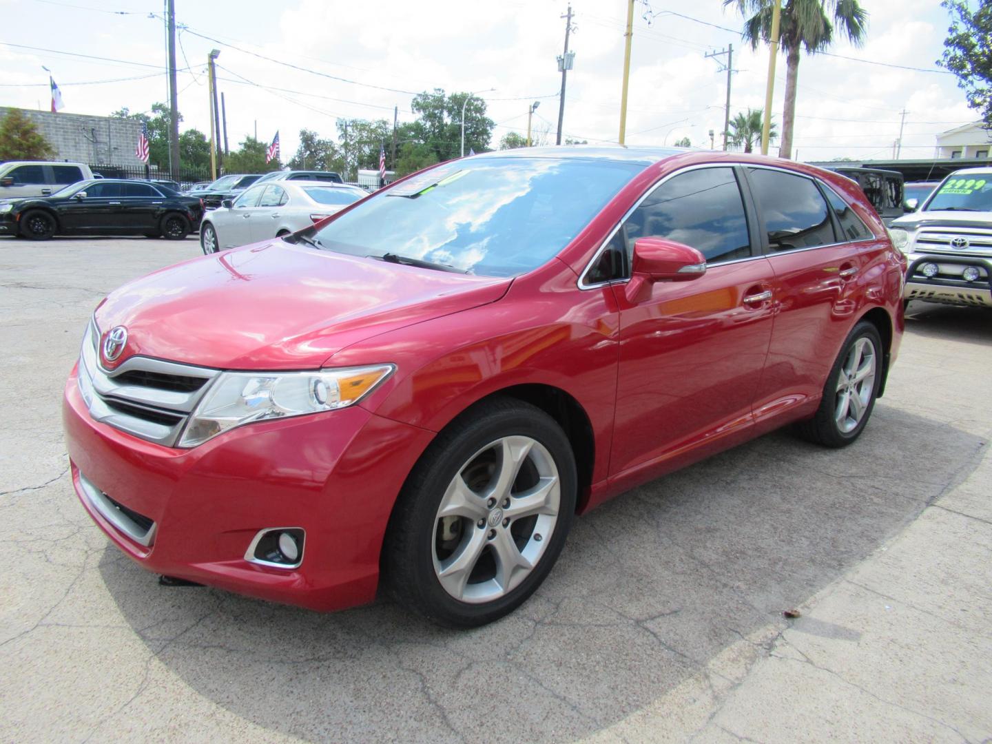
[[[772,35],[772,3],[779,0],[723,0],[736,5],[747,20],[744,39],[757,49]],[[832,20],[830,16],[832,15]],[[749,17],[750,16],[750,17]],[[786,55],[786,101],[782,115],[780,158],[791,158],[793,125],[796,121],[796,80],[800,70],[800,51],[812,55],[833,43],[834,28],[860,47],[864,43],[868,13],[858,0],[785,0],[779,20],[779,46]]]

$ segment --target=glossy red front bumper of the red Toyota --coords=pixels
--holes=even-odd
[[[76,495],[128,557],[156,573],[317,610],[373,599],[393,504],[434,436],[352,407],[175,449],[93,421],[75,369],[62,421]],[[290,525],[306,531],[299,567],[245,559],[260,530]]]

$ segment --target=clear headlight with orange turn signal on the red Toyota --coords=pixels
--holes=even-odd
[[[223,372],[189,417],[179,446],[194,447],[257,421],[353,406],[394,369],[380,364],[316,372]]]

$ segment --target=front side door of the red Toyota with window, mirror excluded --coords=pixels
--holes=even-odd
[[[663,471],[706,441],[729,443],[725,437],[752,422],[772,336],[773,273],[742,178],[722,165],[684,170],[655,186],[621,225],[627,266],[637,238],[650,236],[698,249],[706,271],[655,283],[646,298],[613,286],[620,355],[611,475]]]

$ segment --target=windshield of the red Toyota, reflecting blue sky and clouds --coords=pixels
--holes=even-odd
[[[558,254],[643,169],[580,159],[459,161],[381,191],[314,238],[340,253],[513,277]]]

